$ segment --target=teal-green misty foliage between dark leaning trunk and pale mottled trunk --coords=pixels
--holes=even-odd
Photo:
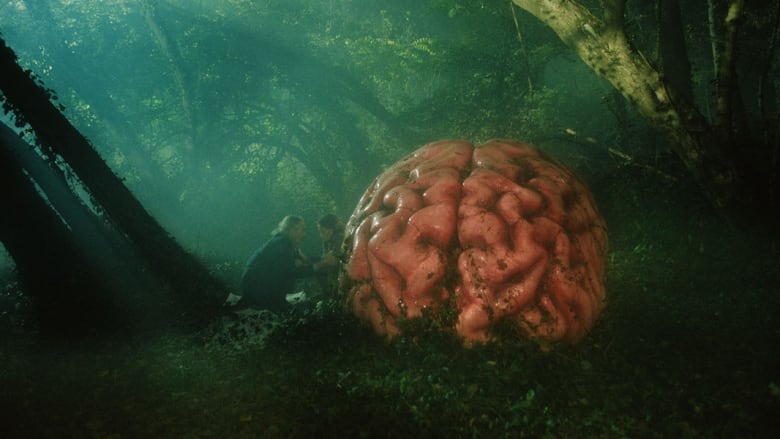
[[[247,257],[288,213],[346,219],[374,175],[430,141],[542,139],[576,166],[607,143],[567,131],[609,142],[616,130],[607,85],[571,54],[519,59],[508,7],[29,3],[0,18],[22,65],[154,217],[212,261]],[[553,38],[527,26],[526,44]],[[559,107],[527,108],[530,87]],[[305,248],[316,246],[310,227]]]

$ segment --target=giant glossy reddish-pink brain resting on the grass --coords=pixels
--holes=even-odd
[[[448,306],[468,345],[499,323],[576,342],[604,305],[606,225],[593,197],[524,143],[448,140],[409,154],[366,190],[345,247],[347,303],[389,338]]]

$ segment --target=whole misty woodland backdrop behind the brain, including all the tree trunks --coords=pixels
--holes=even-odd
[[[214,307],[279,218],[346,219],[384,167],[442,138],[540,146],[591,184],[613,231],[641,217],[647,181],[736,227],[776,218],[772,2],[0,7],[16,211],[0,262],[51,315],[101,289],[127,289],[104,310],[144,303],[147,272],[182,293],[173,306]]]

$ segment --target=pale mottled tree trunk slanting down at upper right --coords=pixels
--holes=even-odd
[[[631,47],[623,25],[625,0],[602,0],[602,18],[567,0],[512,0],[549,26],[598,75],[609,81],[667,137],[705,194],[717,206],[730,204],[736,170],[724,143],[693,104],[663,80]]]

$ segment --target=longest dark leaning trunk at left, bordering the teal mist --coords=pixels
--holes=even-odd
[[[179,294],[182,311],[219,306],[226,295],[222,282],[185,251],[144,209],[81,133],[55,108],[48,92],[16,62],[16,55],[0,39],[0,90],[5,105],[15,108],[38,142],[62,157],[75,171],[115,227],[136,246],[150,269]]]

